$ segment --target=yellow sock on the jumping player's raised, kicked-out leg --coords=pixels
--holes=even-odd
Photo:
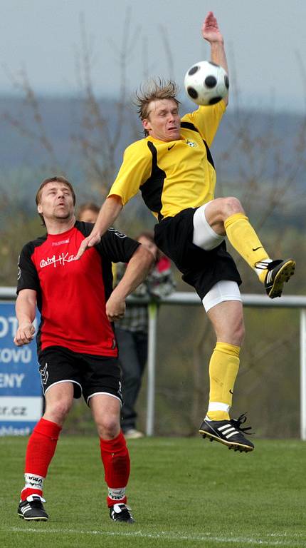
[[[269,258],[246,215],[234,213],[224,221],[224,228],[231,245],[246,260],[250,268],[255,270],[255,263]],[[262,282],[265,280],[265,274],[266,270],[259,274]]]

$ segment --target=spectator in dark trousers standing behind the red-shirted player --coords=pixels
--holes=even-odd
[[[138,285],[133,295],[140,298],[159,299],[166,297],[175,288],[171,261],[159,251],[154,243],[154,233],[144,231],[136,240],[142,243],[156,257],[154,269]],[[117,263],[117,280],[125,273],[126,264]],[[148,352],[148,308],[144,305],[129,305],[125,317],[116,323],[116,337],[119,347],[119,362],[122,369],[123,405],[121,427],[127,439],[143,437],[137,430],[135,405],[142,385],[142,376]]]

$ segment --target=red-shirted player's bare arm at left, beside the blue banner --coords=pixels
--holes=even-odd
[[[34,338],[33,321],[36,315],[36,291],[22,289],[16,300],[16,316],[18,329],[14,337],[16,346],[28,345]]]

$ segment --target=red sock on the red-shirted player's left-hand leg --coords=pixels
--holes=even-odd
[[[31,434],[26,448],[26,465],[24,468],[25,474],[37,475],[45,478],[48,472],[48,466],[56,451],[58,436],[62,427],[56,422],[41,419]],[[43,491],[39,488],[25,487],[21,491],[21,499],[26,500],[30,494],[40,494]]]

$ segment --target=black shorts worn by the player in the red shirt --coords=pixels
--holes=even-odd
[[[73,382],[73,397],[88,403],[94,394],[110,394],[122,402],[121,370],[117,357],[79,354],[63,346],[48,346],[39,357],[43,394],[59,382]]]

